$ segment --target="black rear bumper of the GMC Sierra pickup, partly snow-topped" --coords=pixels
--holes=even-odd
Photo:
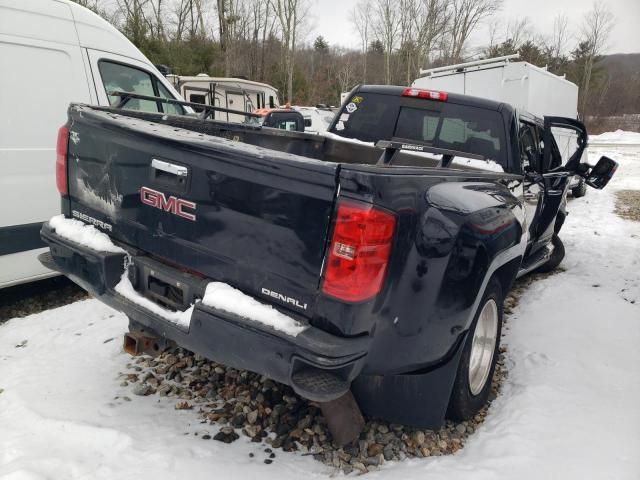
[[[51,252],[40,257],[46,267],[66,275],[135,323],[211,360],[288,384],[310,400],[329,401],[345,394],[366,361],[369,337],[338,337],[312,326],[294,337],[200,302],[188,327],[179,327],[114,290],[124,271],[124,254],[76,244],[46,223],[41,236]],[[131,256],[135,262],[135,255]],[[176,279],[185,275],[166,265],[162,273]],[[200,283],[202,298],[206,282]]]

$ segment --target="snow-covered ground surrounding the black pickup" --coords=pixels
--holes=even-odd
[[[640,478],[640,223],[611,213],[614,190],[640,189],[640,146],[590,153],[621,168],[605,191],[570,202],[566,271],[534,283],[511,316],[509,376],[484,425],[455,455],[387,463],[368,479]],[[0,326],[0,478],[333,473],[281,451],[265,465],[263,447],[245,437],[187,435],[206,427],[195,412],[119,386],[126,326],[95,300]]]

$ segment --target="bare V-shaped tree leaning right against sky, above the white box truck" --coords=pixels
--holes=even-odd
[[[458,61],[469,36],[482,20],[494,15],[502,0],[451,0],[449,60]]]

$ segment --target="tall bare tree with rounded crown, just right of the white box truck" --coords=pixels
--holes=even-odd
[[[586,116],[587,99],[591,86],[593,65],[597,57],[607,48],[611,30],[615,25],[615,18],[602,0],[594,2],[592,9],[585,15],[580,29],[580,41],[587,45],[587,55],[584,62],[580,114]]]

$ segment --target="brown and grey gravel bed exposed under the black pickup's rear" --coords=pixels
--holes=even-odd
[[[549,275],[527,275],[516,282],[505,299],[505,330],[522,292]],[[507,376],[505,352],[501,347],[490,402],[500,394]],[[299,452],[344,474],[366,473],[389,461],[451,455],[482,425],[488,409],[466,422],[446,421],[439,430],[367,419],[359,441],[341,448],[332,444],[317,404],[267,377],[225,367],[181,348],[157,357],[137,357],[127,367],[119,381],[128,382],[134,394],[168,397],[176,409],[193,409],[207,425],[205,432],[199,430],[200,438],[232,443],[243,436],[266,446],[261,454],[266,464],[277,461],[274,450]]]

